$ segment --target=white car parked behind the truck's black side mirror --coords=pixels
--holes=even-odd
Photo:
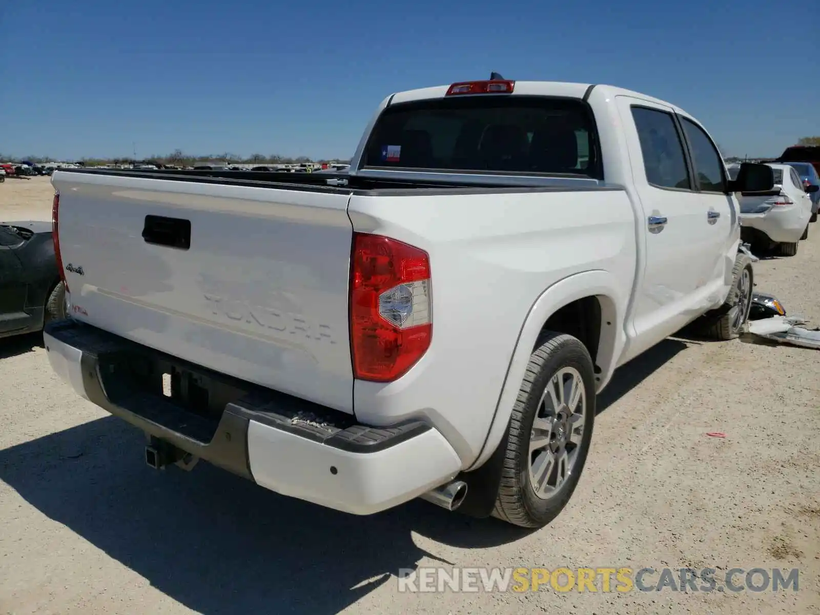
[[[740,195],[740,239],[753,249],[777,248],[781,256],[794,256],[800,239],[809,236],[812,202],[818,186],[804,188],[797,171],[787,164],[773,164],[774,187],[763,193],[744,192]],[[739,165],[728,167],[736,176]],[[807,193],[806,190],[810,192]]]

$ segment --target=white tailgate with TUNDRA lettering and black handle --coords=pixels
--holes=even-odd
[[[353,412],[340,189],[57,171],[72,317]]]

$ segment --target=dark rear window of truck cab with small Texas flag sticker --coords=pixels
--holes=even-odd
[[[603,179],[589,107],[530,96],[443,98],[387,107],[363,166]]]

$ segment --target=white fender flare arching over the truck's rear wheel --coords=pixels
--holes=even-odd
[[[623,327],[626,298],[618,286],[615,276],[608,271],[583,271],[558,280],[535,299],[519,330],[484,446],[468,471],[480,467],[498,448],[507,430],[518,389],[524,380],[527,363],[530,362],[535,342],[544,323],[561,307],[593,295],[599,299],[601,306],[601,334],[595,360],[599,372],[596,370],[595,382],[598,391],[607,384],[615,371],[617,358],[621,356],[626,344],[626,332]]]

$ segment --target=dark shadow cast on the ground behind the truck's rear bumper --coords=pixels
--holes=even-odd
[[[206,463],[191,474],[176,467],[157,472],[145,465],[143,447],[139,431],[104,417],[0,451],[0,480],[206,615],[338,613],[395,583],[400,568],[414,568],[425,556],[445,561],[418,548],[412,531],[458,547],[526,535],[421,501],[355,517],[282,497]]]

